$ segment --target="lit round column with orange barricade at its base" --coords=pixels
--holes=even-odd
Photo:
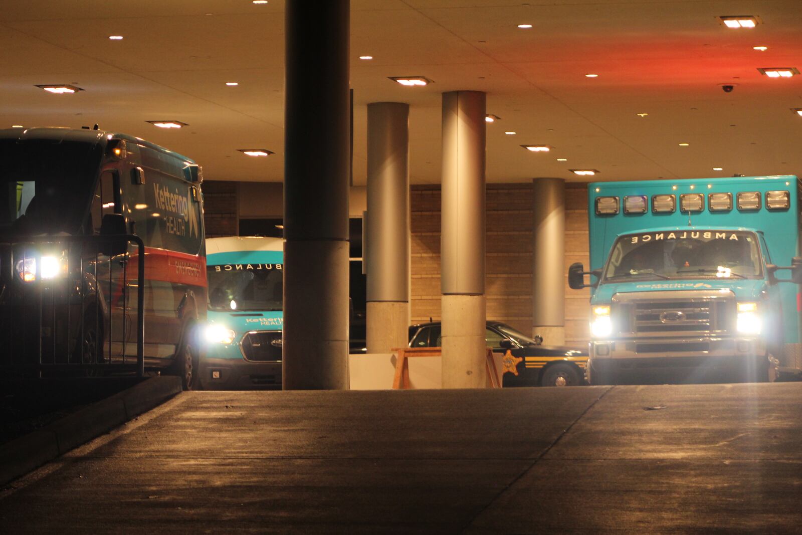
[[[443,387],[487,385],[484,325],[484,104],[481,91],[443,94]]]

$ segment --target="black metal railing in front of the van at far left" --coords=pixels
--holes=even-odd
[[[144,375],[144,260],[132,234],[0,242],[3,377]]]

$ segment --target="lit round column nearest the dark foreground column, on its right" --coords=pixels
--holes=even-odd
[[[389,353],[408,342],[409,104],[367,105],[367,213],[367,352]]]

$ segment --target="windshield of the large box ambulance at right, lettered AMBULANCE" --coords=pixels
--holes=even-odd
[[[627,234],[618,238],[604,282],[627,279],[759,278],[763,276],[755,233],[694,229]]]

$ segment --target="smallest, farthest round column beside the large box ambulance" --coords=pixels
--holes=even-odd
[[[532,334],[565,344],[565,180],[536,178],[533,188]]]

